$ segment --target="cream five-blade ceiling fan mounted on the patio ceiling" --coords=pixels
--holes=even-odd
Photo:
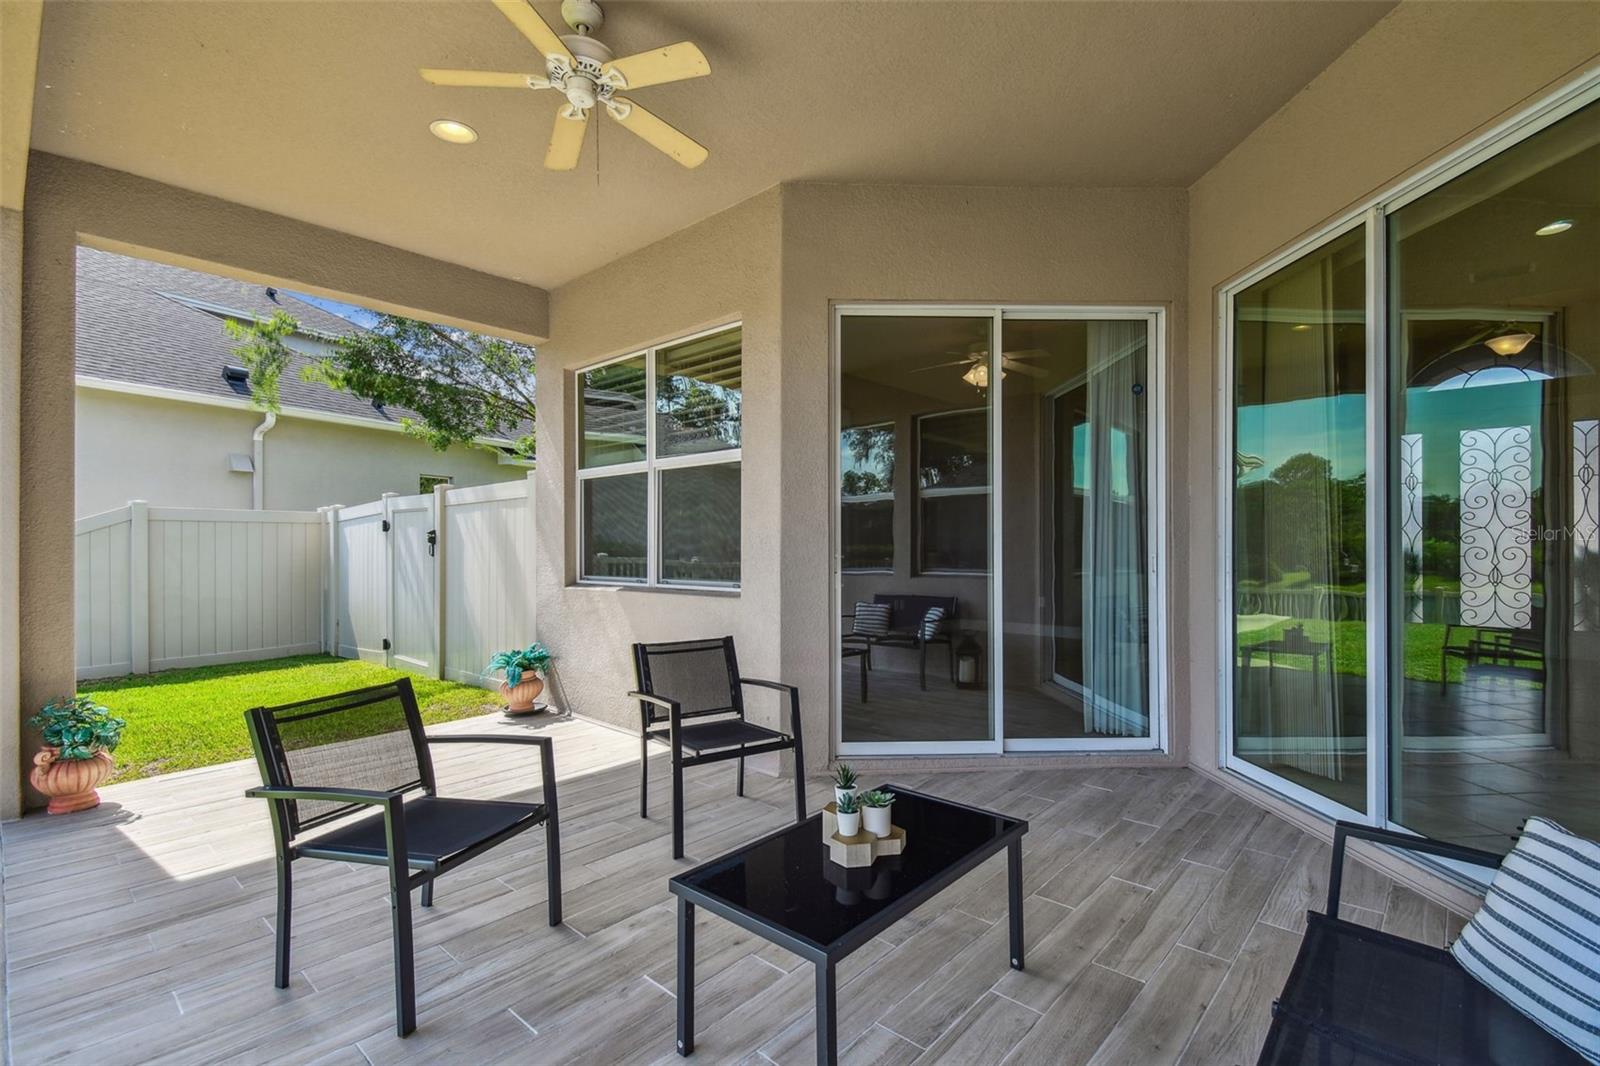
[[[611,58],[611,50],[590,34],[600,29],[605,16],[595,0],[562,0],[562,18],[573,29],[557,34],[539,18],[528,0],[494,0],[512,26],[533,42],[544,56],[544,74],[501,74],[496,70],[437,70],[424,67],[419,74],[432,85],[459,85],[467,88],[554,88],[566,102],[555,114],[555,130],[544,155],[549,170],[573,170],[584,147],[584,131],[589,128],[589,112],[603,107],[611,118],[646,144],[666,152],[683,166],[699,166],[709,152],[693,138],[645,110],[619,90],[637,90],[646,85],[664,85],[710,74],[710,64],[698,46],[690,42],[651,48],[634,56]]]

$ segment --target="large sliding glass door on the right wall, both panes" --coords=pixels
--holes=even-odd
[[[1224,762],[1600,836],[1600,85],[1224,291]]]

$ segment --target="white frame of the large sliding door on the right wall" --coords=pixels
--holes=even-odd
[[[1294,804],[1326,818],[1344,818],[1405,831],[1390,818],[1390,663],[1395,650],[1390,618],[1397,610],[1398,587],[1389,579],[1390,560],[1398,557],[1398,531],[1389,528],[1390,456],[1395,442],[1395,403],[1390,375],[1389,338],[1390,288],[1387,279],[1387,218],[1398,208],[1512,144],[1544,130],[1566,115],[1600,101],[1600,69],[1589,70],[1562,91],[1525,109],[1512,118],[1470,139],[1434,165],[1384,189],[1331,222],[1306,234],[1269,259],[1226,282],[1216,304],[1218,370],[1218,765],[1261,784]],[[1318,246],[1365,226],[1366,253],[1366,810],[1357,812],[1302,787],[1235,755],[1234,736],[1234,301],[1261,279],[1294,262]]]

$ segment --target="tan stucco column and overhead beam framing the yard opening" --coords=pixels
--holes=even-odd
[[[542,341],[547,293],[507,279],[34,152],[22,214],[19,707],[74,687],[74,303],[77,245],[277,283],[435,322]],[[13,290],[8,290],[13,291]],[[0,415],[8,411],[0,410]],[[0,568],[0,581],[8,581]],[[11,707],[13,712],[19,709]],[[0,765],[0,815],[14,812],[22,759]]]

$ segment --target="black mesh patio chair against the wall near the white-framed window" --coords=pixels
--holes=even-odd
[[[733,637],[635,643],[638,690],[638,816],[650,816],[650,741],[672,746],[672,858],[683,858],[683,768],[739,760],[738,794],[744,795],[744,760],[770,751],[795,752],[795,821],[805,821],[805,749],[800,743],[800,690],[782,682],[739,675]],[[744,687],[789,693],[789,731],[770,730],[744,717]]]

